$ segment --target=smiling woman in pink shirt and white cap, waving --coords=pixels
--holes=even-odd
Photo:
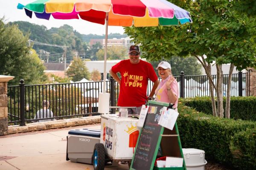
[[[166,61],[162,61],[156,69],[162,80],[155,91],[155,100],[158,102],[172,103],[174,104],[173,108],[177,111],[179,88],[178,82],[172,76],[171,65]]]

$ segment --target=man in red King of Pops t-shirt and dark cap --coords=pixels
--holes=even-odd
[[[123,107],[137,107],[128,109],[128,113],[140,114],[141,106],[147,100],[152,99],[159,80],[154,72],[154,68],[148,62],[140,59],[140,48],[138,45],[131,45],[129,49],[130,59],[125,59],[114,65],[109,73],[120,85],[120,93],[117,105]],[[121,79],[117,73],[121,74]],[[147,96],[148,79],[154,82],[152,90]]]

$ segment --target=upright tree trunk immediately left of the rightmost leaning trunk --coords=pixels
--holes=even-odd
[[[216,94],[217,94],[217,114],[218,114],[218,117],[223,117],[223,112],[224,112],[224,109],[223,109],[223,94],[221,93],[222,92],[222,84],[221,82],[222,81],[222,69],[221,69],[221,65],[218,65],[216,64],[216,68],[217,68],[217,85],[216,85]]]

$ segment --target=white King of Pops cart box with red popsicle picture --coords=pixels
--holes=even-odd
[[[138,119],[119,117],[114,114],[101,115],[100,142],[106,155],[114,161],[130,161],[134,154],[140,131]]]

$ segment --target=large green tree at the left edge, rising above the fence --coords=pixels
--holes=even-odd
[[[44,82],[44,65],[28,46],[28,35],[23,36],[16,25],[0,20],[0,74],[15,76],[9,85],[17,85],[20,79],[26,84]]]

